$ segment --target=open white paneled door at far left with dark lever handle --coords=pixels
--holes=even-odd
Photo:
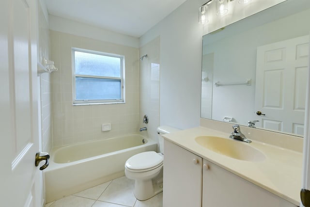
[[[36,0],[0,3],[0,206],[42,207],[39,151]]]

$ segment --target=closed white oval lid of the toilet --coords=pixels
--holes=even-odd
[[[129,158],[125,165],[130,170],[145,170],[163,163],[163,157],[154,151],[141,152]]]

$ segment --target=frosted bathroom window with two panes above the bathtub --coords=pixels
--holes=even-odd
[[[73,104],[124,102],[124,56],[72,49]]]

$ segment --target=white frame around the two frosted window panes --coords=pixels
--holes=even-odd
[[[125,96],[124,96],[124,74],[125,74],[125,57],[124,55],[112,54],[107,52],[89,50],[89,49],[82,49],[82,48],[71,48],[72,51],[72,98],[73,98],[73,105],[92,105],[92,104],[115,104],[115,103],[125,103]],[[117,77],[109,77],[109,76],[92,76],[92,75],[80,75],[76,74],[76,67],[75,67],[75,51],[96,54],[96,55],[104,55],[114,58],[121,59],[121,68],[120,68],[120,78]],[[106,79],[106,80],[121,80],[121,98],[120,99],[92,99],[92,100],[77,100],[76,94],[76,78],[95,78],[95,79]]]

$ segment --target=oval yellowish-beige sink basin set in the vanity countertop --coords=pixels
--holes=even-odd
[[[263,161],[266,159],[265,155],[251,147],[250,143],[212,136],[196,137],[195,141],[209,150],[230,158],[245,161]]]

